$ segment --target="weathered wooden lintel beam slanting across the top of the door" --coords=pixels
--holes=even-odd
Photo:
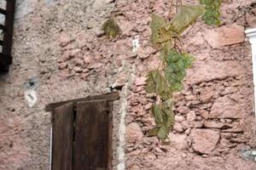
[[[89,101],[89,100],[96,100],[96,99],[106,99],[108,101],[114,101],[119,99],[119,92],[113,92],[111,94],[101,94],[96,96],[87,96],[85,98],[80,98],[80,99],[69,99],[66,101],[51,103],[45,106],[45,111],[53,111],[55,107],[58,107],[60,105],[65,105],[70,102],[73,102],[74,105],[77,105],[79,101]]]

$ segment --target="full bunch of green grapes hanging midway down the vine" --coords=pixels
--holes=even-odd
[[[178,53],[172,49],[166,54],[166,81],[170,83],[172,92],[183,89],[183,78],[186,77],[186,70],[191,67],[194,57],[187,53]]]

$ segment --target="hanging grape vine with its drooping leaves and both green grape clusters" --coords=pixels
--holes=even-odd
[[[177,0],[178,2],[178,0]],[[175,122],[173,93],[183,89],[183,78],[186,70],[192,66],[195,58],[181,47],[181,34],[202,16],[207,25],[220,25],[220,0],[200,0],[200,5],[177,5],[177,14],[172,20],[166,20],[158,14],[152,14],[151,42],[160,48],[162,66],[149,71],[145,90],[148,94],[157,94],[159,104],[151,108],[155,126],[149,130],[148,136],[157,136],[162,142],[168,143],[168,134]]]

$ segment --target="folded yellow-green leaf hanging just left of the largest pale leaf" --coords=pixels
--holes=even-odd
[[[153,44],[160,42],[158,29],[166,24],[166,20],[158,14],[151,14],[151,41]]]

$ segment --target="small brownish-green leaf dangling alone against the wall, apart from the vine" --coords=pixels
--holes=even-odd
[[[113,19],[108,19],[103,24],[102,30],[104,31],[105,35],[109,38],[117,37],[121,32],[119,25]]]

